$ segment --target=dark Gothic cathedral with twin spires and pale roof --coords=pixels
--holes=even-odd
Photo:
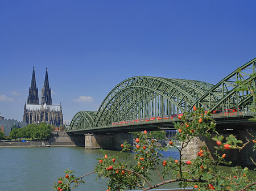
[[[35,67],[33,67],[31,86],[28,90],[27,103],[24,105],[23,121],[27,124],[47,124],[60,126],[63,124],[63,114],[60,105],[52,105],[51,88],[49,88],[48,71],[42,88],[41,104],[39,104],[38,88],[35,80]]]

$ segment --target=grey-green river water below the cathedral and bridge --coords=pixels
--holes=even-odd
[[[108,156],[118,151],[105,151]],[[179,153],[171,148],[163,152],[165,157],[178,158]],[[72,169],[79,177],[92,172],[97,158],[104,156],[100,150],[85,150],[82,147],[16,147],[0,148],[0,190],[32,191],[53,190],[53,182],[64,176],[65,169]],[[119,156],[118,160],[124,157]],[[130,156],[129,160],[133,160]],[[107,179],[96,180],[96,175],[86,176],[85,184],[75,190],[106,190]],[[156,180],[159,182],[159,180]],[[178,188],[177,184],[162,188]]]

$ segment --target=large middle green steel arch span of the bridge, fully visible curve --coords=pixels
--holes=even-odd
[[[144,121],[191,110],[212,84],[194,80],[133,77],[105,97],[95,118],[96,126]]]

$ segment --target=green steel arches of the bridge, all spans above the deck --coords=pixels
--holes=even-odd
[[[123,121],[145,120],[191,111],[193,105],[207,111],[228,108],[255,108],[253,96],[238,91],[237,80],[245,78],[255,87],[256,58],[235,70],[215,86],[196,80],[159,77],[133,77],[117,84],[105,97],[97,112],[78,112],[71,129],[111,126]],[[253,106],[253,107],[251,107]],[[80,126],[79,126],[79,125]]]

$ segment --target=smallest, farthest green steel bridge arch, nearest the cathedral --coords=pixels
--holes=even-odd
[[[96,113],[97,112],[90,111],[80,111],[76,113],[71,121],[69,131],[94,128],[96,126],[94,122]]]

